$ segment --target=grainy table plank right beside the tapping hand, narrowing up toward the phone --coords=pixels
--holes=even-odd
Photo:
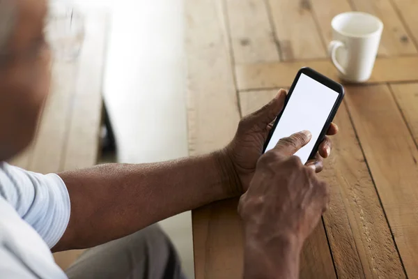
[[[339,278],[405,278],[362,150],[341,105],[331,158],[320,174],[331,186],[325,227]]]

